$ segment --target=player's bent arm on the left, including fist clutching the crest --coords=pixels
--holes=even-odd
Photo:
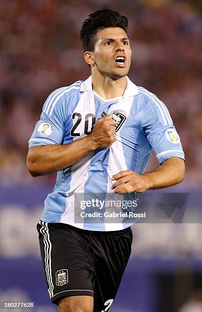
[[[91,135],[66,145],[38,145],[27,154],[27,169],[32,176],[45,175],[64,169],[89,152],[105,148],[116,141],[112,114],[97,121]]]

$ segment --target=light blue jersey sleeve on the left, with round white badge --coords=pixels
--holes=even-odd
[[[53,91],[44,103],[40,120],[36,123],[29,147],[48,144],[62,144],[65,135],[66,107],[64,97],[55,101]],[[57,91],[59,92],[59,91]]]

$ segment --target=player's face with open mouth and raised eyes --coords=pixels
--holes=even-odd
[[[131,49],[125,31],[117,27],[98,32],[92,57],[94,66],[105,76],[113,80],[126,76],[130,68]]]

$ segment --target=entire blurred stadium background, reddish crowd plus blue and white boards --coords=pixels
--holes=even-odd
[[[27,141],[48,94],[86,79],[79,31],[93,11],[129,18],[130,79],[167,105],[186,156],[186,178],[168,192],[189,192],[201,206],[201,0],[0,0],[0,300],[47,295],[36,223],[55,175],[32,178]],[[152,155],[148,170],[157,166]],[[133,250],[112,312],[202,311],[200,223],[136,224]]]

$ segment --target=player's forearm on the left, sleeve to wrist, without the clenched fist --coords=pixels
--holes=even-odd
[[[66,145],[31,147],[27,155],[27,168],[32,176],[56,172],[72,165],[96,148],[96,142],[90,136]]]

